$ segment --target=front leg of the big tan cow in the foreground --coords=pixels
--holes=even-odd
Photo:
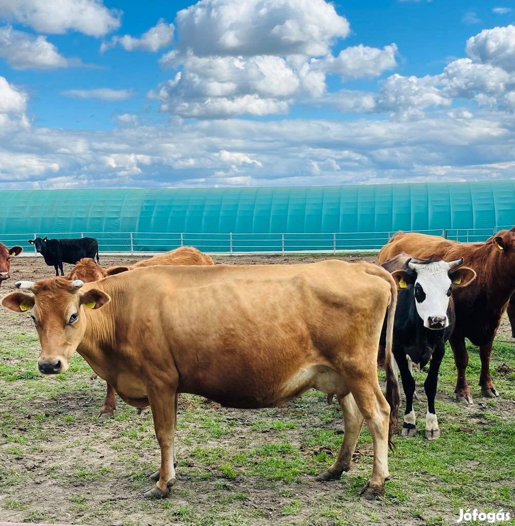
[[[174,467],[176,398],[175,390],[167,392],[163,389],[160,392],[148,393],[156,438],[161,449],[159,480],[153,488],[144,493],[144,497],[148,499],[165,497],[176,482]]]

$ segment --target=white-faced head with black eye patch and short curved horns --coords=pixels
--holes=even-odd
[[[432,259],[413,262],[409,258],[405,268],[392,272],[399,289],[408,289],[415,299],[418,315],[428,329],[444,329],[449,326],[447,309],[452,290],[466,287],[476,272],[460,267],[463,258],[457,261],[433,261]]]

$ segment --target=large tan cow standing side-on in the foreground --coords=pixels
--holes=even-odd
[[[335,395],[345,418],[336,462],[318,480],[348,470],[367,422],[373,442],[366,498],[384,491],[398,385],[391,366],[396,283],[365,261],[296,265],[148,267],[90,284],[62,278],[16,286],[2,305],[29,311],[41,343],[38,368],[63,372],[77,350],[135,407],[150,404],[161,448],[157,484],[175,483],[177,393],[237,408],[275,407],[309,388]],[[387,400],[377,348],[388,312]]]

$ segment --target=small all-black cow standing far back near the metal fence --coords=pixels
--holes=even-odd
[[[93,237],[83,237],[80,239],[48,239],[48,237],[37,237],[29,239],[28,242],[34,245],[36,252],[39,252],[45,263],[55,268],[55,275],[64,276],[63,263],[76,265],[77,261],[82,258],[98,259],[98,241]]]

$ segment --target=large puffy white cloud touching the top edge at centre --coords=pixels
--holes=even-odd
[[[320,56],[349,31],[325,0],[201,0],[177,13],[180,48],[198,56]]]

